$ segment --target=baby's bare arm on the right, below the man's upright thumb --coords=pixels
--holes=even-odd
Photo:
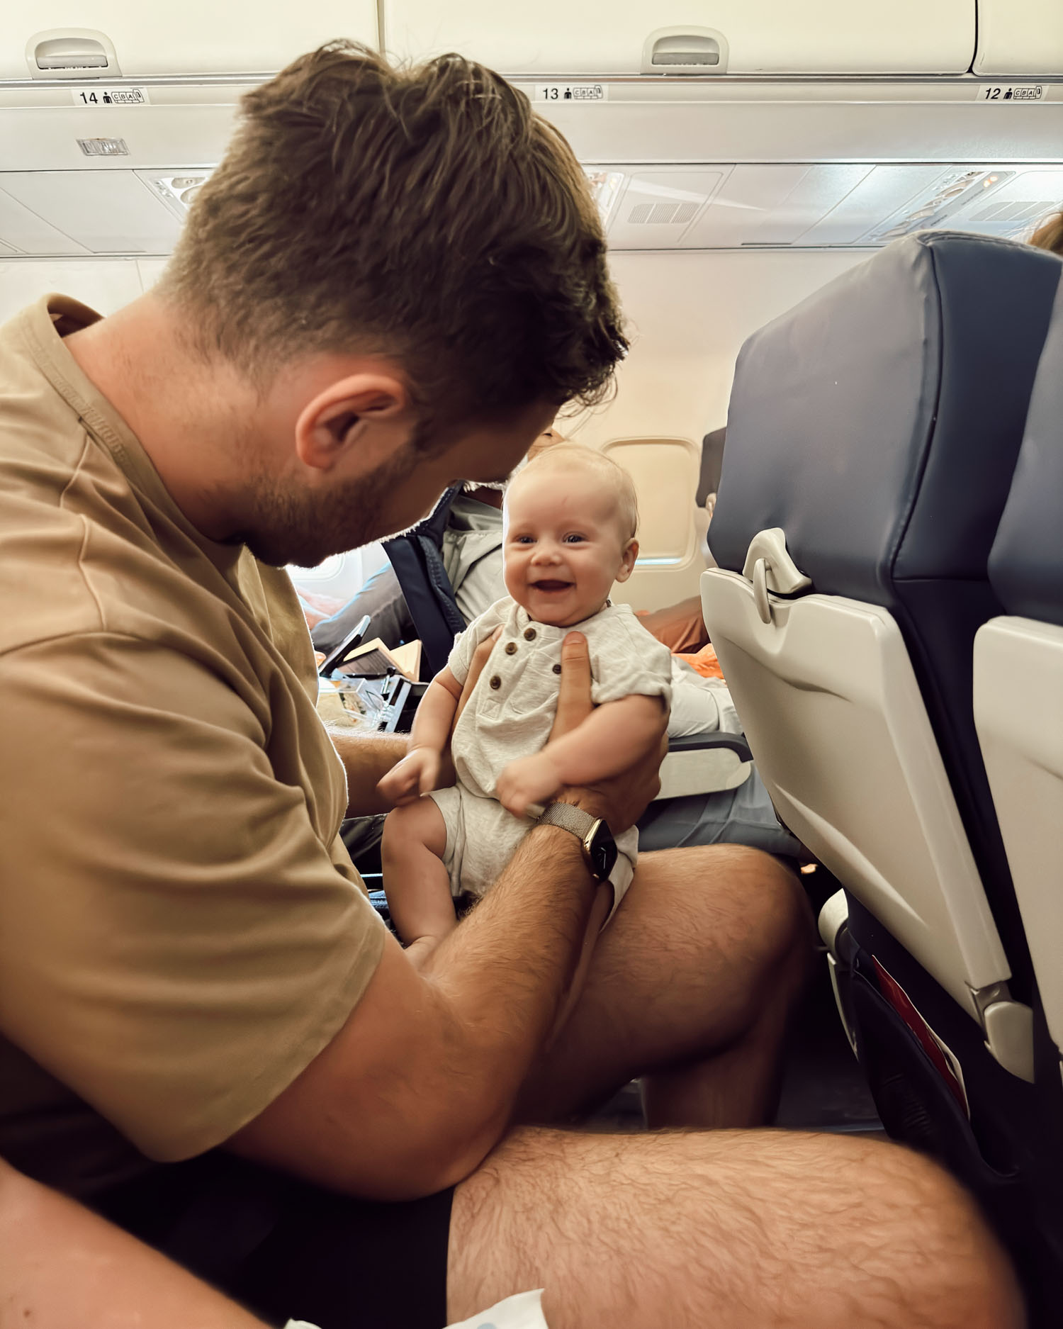
[[[619,775],[660,742],[663,706],[663,698],[642,694],[606,702],[541,752],[510,762],[498,776],[498,801],[522,817],[565,784],[594,784]]]

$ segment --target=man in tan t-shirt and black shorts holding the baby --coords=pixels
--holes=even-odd
[[[504,477],[623,351],[557,132],[343,45],[248,94],[155,291],[3,331],[0,1152],[272,1321],[545,1286],[551,1329],[1010,1329],[930,1164],[741,1130],[808,966],[773,860],[647,855],[545,1046],[654,763],[566,791],[420,970],[336,840],[403,744],[330,744],[278,569]],[[575,634],[561,730],[589,695]],[[652,1126],[733,1130],[513,1124],[638,1073]]]

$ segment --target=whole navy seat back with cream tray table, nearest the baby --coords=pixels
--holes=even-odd
[[[1032,981],[971,647],[1059,275],[923,233],[753,334],[702,581],[783,821],[1024,1079]]]

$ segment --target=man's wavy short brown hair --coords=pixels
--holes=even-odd
[[[454,54],[400,69],[335,41],[248,93],[159,291],[259,381],[308,352],[396,356],[441,424],[593,404],[627,350],[571,149]]]

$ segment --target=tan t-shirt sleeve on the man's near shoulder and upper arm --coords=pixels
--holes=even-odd
[[[384,936],[278,779],[268,711],[113,633],[0,659],[4,1033],[150,1158],[226,1140],[331,1042]]]

